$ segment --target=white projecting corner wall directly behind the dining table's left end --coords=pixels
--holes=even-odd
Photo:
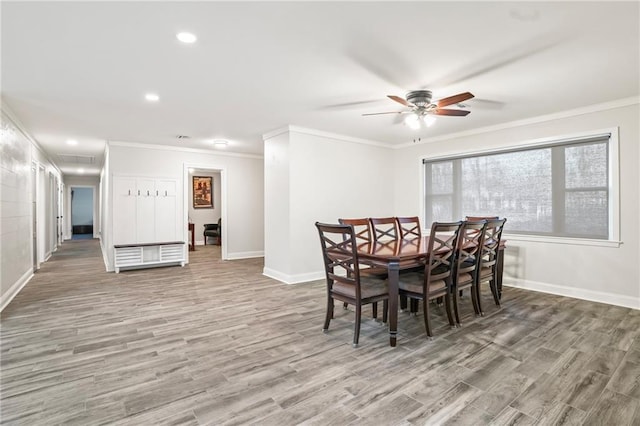
[[[287,283],[324,276],[315,222],[393,214],[393,151],[288,127],[265,135],[265,268]]]

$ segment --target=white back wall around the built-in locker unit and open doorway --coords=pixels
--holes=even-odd
[[[178,218],[184,218],[182,240],[188,242],[187,210],[185,197],[185,165],[198,164],[202,168],[224,170],[227,180],[226,253],[229,259],[262,256],[264,254],[264,193],[262,157],[209,152],[195,149],[178,149],[164,146],[141,145],[126,142],[109,142],[109,175],[158,177],[176,179]],[[110,204],[112,189],[108,189]],[[222,202],[221,202],[222,203]],[[110,207],[108,207],[109,209]],[[106,220],[106,219],[105,219]],[[105,222],[108,270],[113,270],[111,229]],[[108,228],[108,229],[107,229]]]

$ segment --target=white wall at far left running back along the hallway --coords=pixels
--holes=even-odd
[[[33,276],[33,201],[40,217],[38,245],[43,262],[57,247],[55,239],[55,195],[50,191],[60,181],[60,171],[22,131],[3,105],[0,129],[0,310]],[[37,170],[36,193],[31,169]]]

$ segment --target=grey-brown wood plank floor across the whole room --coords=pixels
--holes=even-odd
[[[398,347],[324,282],[262,259],[104,272],[69,241],[2,312],[1,422],[23,425],[638,425],[640,311],[506,288],[501,309],[435,338],[399,314]]]

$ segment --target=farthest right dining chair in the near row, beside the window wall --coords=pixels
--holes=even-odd
[[[482,311],[481,301],[481,284],[488,282],[493,300],[496,306],[500,307],[500,296],[498,295],[497,279],[498,279],[498,259],[500,240],[502,239],[502,230],[507,219],[488,220],[484,231],[484,243],[482,244],[482,254],[480,256],[480,265],[478,274],[476,275],[476,294],[478,300],[478,309],[480,315],[484,315]]]

